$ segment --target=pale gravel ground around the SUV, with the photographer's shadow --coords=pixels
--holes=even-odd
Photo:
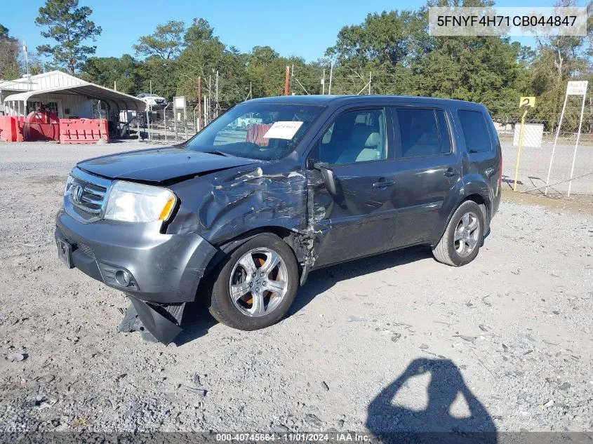
[[[165,347],[53,243],[74,162],[146,146],[0,144],[0,431],[593,430],[589,204],[506,194],[466,267],[342,264],[277,325],[194,308]]]

